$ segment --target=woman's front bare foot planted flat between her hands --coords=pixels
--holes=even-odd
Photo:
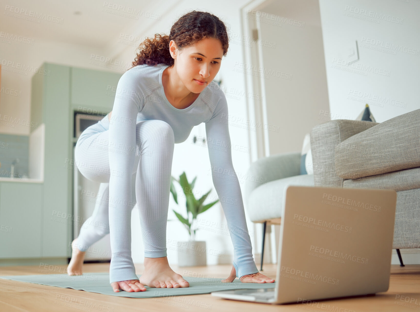
[[[181,274],[175,273],[169,267],[168,258],[144,258],[144,272],[140,283],[156,288],[189,287],[189,283]]]

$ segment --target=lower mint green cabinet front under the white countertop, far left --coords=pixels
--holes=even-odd
[[[39,183],[0,183],[0,258],[42,257],[42,190]]]

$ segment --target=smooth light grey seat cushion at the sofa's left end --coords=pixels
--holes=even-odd
[[[281,217],[283,191],[287,185],[313,186],[313,174],[302,174],[267,182],[249,194],[247,213],[252,222]]]

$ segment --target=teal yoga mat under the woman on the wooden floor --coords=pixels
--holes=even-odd
[[[142,275],[137,275],[138,277]],[[0,276],[0,278],[42,284],[48,286],[56,286],[62,288],[73,288],[76,290],[90,291],[93,293],[130,297],[130,298],[152,298],[166,296],[185,296],[197,294],[210,294],[212,291],[229,290],[229,289],[260,289],[274,288],[274,283],[242,283],[239,279],[235,279],[232,283],[223,283],[223,278],[194,278],[183,276],[189,282],[189,287],[184,288],[150,288],[146,287],[146,291],[127,292],[120,290],[116,293],[112,290],[109,283],[109,273],[83,273],[83,275],[67,275],[67,274],[38,274],[38,275],[8,275]]]

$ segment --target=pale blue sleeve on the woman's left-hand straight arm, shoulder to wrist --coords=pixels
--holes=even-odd
[[[131,72],[133,73],[133,72]],[[129,71],[118,81],[109,124],[110,283],[138,279],[131,258],[131,176],[136,152],[136,116],[141,102]],[[110,119],[110,118],[109,118]]]

